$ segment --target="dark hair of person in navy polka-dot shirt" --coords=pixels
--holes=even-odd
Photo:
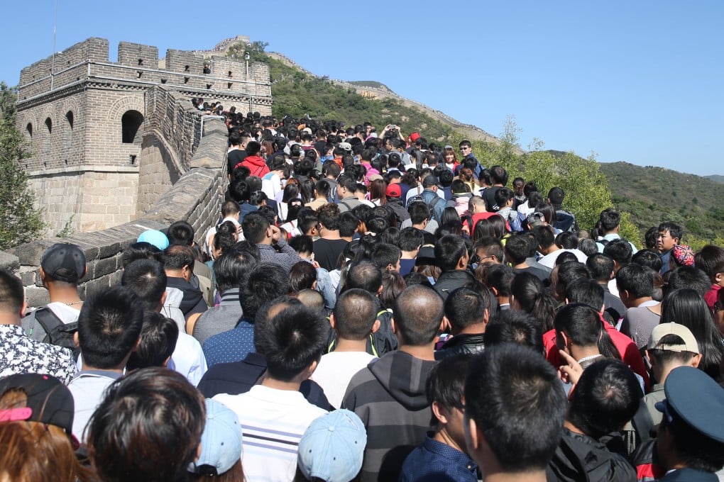
[[[289,293],[289,275],[274,263],[259,263],[251,268],[239,291],[239,303],[247,322],[256,322],[256,312],[262,305]]]

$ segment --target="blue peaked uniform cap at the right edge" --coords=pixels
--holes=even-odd
[[[724,388],[693,366],[673,369],[664,382],[666,400],[654,405],[667,420],[674,416],[708,439],[724,443]]]

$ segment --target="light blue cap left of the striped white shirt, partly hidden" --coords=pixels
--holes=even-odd
[[[190,472],[198,475],[222,475],[241,458],[239,418],[223,403],[206,399],[206,426],[201,435],[201,457]]]

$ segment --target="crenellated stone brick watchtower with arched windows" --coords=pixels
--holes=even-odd
[[[22,69],[17,126],[32,155],[21,164],[51,233],[127,223],[164,194],[201,138],[193,97],[271,115],[269,66],[170,49],[159,61],[127,42],[111,62],[108,40],[89,38]]]

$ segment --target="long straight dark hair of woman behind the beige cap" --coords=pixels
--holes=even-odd
[[[712,311],[704,298],[688,288],[666,293],[661,302],[661,323],[670,322],[683,324],[691,330],[702,353],[699,369],[713,379],[719,379],[719,365],[724,356],[724,348]]]

